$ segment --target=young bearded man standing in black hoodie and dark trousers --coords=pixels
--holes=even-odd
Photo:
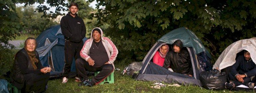
[[[86,29],[83,20],[77,16],[78,5],[71,3],[66,16],[61,19],[61,30],[65,38],[65,66],[63,71],[62,83],[67,82],[67,75],[71,69],[73,58],[75,60],[80,57],[80,51],[83,47],[82,39],[85,37]]]

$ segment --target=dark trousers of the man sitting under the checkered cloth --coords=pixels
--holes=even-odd
[[[236,79],[236,77],[234,75],[232,75],[231,73],[228,74],[229,76],[229,80],[234,81],[235,86],[239,86],[239,85],[247,85],[249,82],[255,83],[255,76],[252,77],[244,77],[244,82],[240,82]]]

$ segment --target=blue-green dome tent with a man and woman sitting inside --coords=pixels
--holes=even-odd
[[[181,73],[171,72],[152,62],[152,58],[156,51],[163,44],[168,44],[170,50],[172,44],[180,39],[183,42],[184,50],[188,50],[191,58],[193,77]],[[143,60],[143,66],[136,77],[136,80],[159,81],[166,83],[193,84],[202,86],[199,80],[201,71],[209,71],[212,69],[210,62],[210,54],[203,46],[200,39],[189,29],[185,27],[177,28],[163,35],[155,45],[150,49]]]

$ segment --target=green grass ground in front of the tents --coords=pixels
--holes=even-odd
[[[207,90],[198,86],[182,85],[181,87],[166,86],[161,89],[151,88],[154,82],[136,81],[128,75],[121,75],[124,66],[116,65],[120,71],[114,72],[115,83],[95,85],[93,87],[77,86],[74,78],[69,78],[68,83],[62,84],[62,79],[49,80],[46,93],[250,93],[246,91]],[[164,83],[167,84],[167,83]]]

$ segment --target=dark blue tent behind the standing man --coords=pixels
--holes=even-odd
[[[44,30],[37,38],[37,49],[41,64],[45,67],[51,67],[51,76],[58,77],[64,70],[64,35],[61,32],[61,26],[56,25]],[[87,38],[83,38],[85,42]],[[71,65],[71,72],[76,72],[74,60]]]

